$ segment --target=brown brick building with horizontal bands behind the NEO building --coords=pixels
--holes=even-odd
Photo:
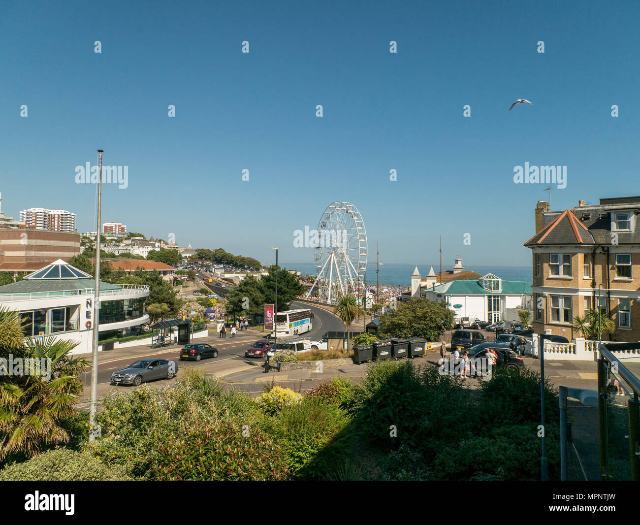
[[[34,229],[0,229],[0,271],[40,270],[80,253],[80,234]]]

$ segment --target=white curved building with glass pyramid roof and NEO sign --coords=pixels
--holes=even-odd
[[[149,287],[100,282],[99,339],[148,322],[143,312]],[[71,353],[89,353],[93,343],[95,280],[62,259],[19,282],[0,286],[0,306],[19,312],[25,337],[54,336],[77,343]]]

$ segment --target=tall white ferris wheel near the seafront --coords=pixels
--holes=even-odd
[[[367,268],[367,230],[358,208],[350,202],[333,202],[326,207],[317,227],[314,289],[321,300],[337,302],[340,295],[364,291]]]

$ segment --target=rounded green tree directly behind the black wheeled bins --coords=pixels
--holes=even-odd
[[[398,303],[396,311],[380,317],[378,337],[423,337],[438,341],[453,324],[453,312],[447,303],[423,298]]]

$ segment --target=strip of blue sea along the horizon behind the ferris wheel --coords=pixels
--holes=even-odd
[[[316,275],[316,265],[313,262],[282,262],[282,268],[287,270],[297,270],[303,275]],[[433,266],[433,271],[440,271],[439,264],[418,264],[418,271],[422,277],[426,277],[429,268]],[[380,284],[390,286],[411,286],[411,274],[415,270],[415,264],[380,264]],[[451,270],[447,266],[442,266],[442,270]],[[531,266],[465,266],[465,270],[475,271],[480,275],[493,273],[504,280],[523,280],[531,282]],[[376,282],[376,263],[367,264],[367,284]]]

